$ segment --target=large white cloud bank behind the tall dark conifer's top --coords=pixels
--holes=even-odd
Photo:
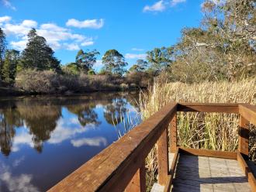
[[[9,23],[9,21],[11,21],[9,16],[0,17],[0,26],[7,36],[14,36],[10,44],[16,50],[23,50],[26,47],[27,33],[32,28],[36,29],[39,36],[47,39],[47,43],[54,50],[79,50],[80,46],[94,44],[92,37],[72,33],[70,29],[57,26],[54,23],[43,23],[38,26],[37,22],[33,20],[23,20],[20,23]]]

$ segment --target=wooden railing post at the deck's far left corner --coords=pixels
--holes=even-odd
[[[170,125],[170,152],[175,153],[177,149],[177,112],[171,118]]]

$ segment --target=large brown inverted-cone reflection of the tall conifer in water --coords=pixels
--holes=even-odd
[[[43,150],[43,142],[50,139],[50,133],[61,117],[61,107],[55,105],[33,105],[20,107],[19,112],[26,122],[26,127],[33,135],[34,147],[38,152]]]

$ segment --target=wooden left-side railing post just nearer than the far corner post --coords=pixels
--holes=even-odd
[[[158,183],[165,185],[168,181],[169,158],[168,158],[168,125],[157,141],[157,165]]]

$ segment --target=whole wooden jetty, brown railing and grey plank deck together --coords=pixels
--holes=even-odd
[[[237,152],[177,146],[177,111],[239,114]],[[171,103],[49,191],[146,191],[145,158],[155,144],[158,183],[152,191],[256,191],[248,166],[249,123],[256,125],[253,105]]]

